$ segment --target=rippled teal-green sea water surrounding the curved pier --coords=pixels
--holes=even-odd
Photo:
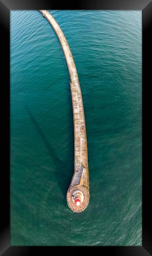
[[[49,22],[11,11],[11,245],[141,245],[141,11],[51,11],[71,48],[90,201],[72,212],[69,73]]]

